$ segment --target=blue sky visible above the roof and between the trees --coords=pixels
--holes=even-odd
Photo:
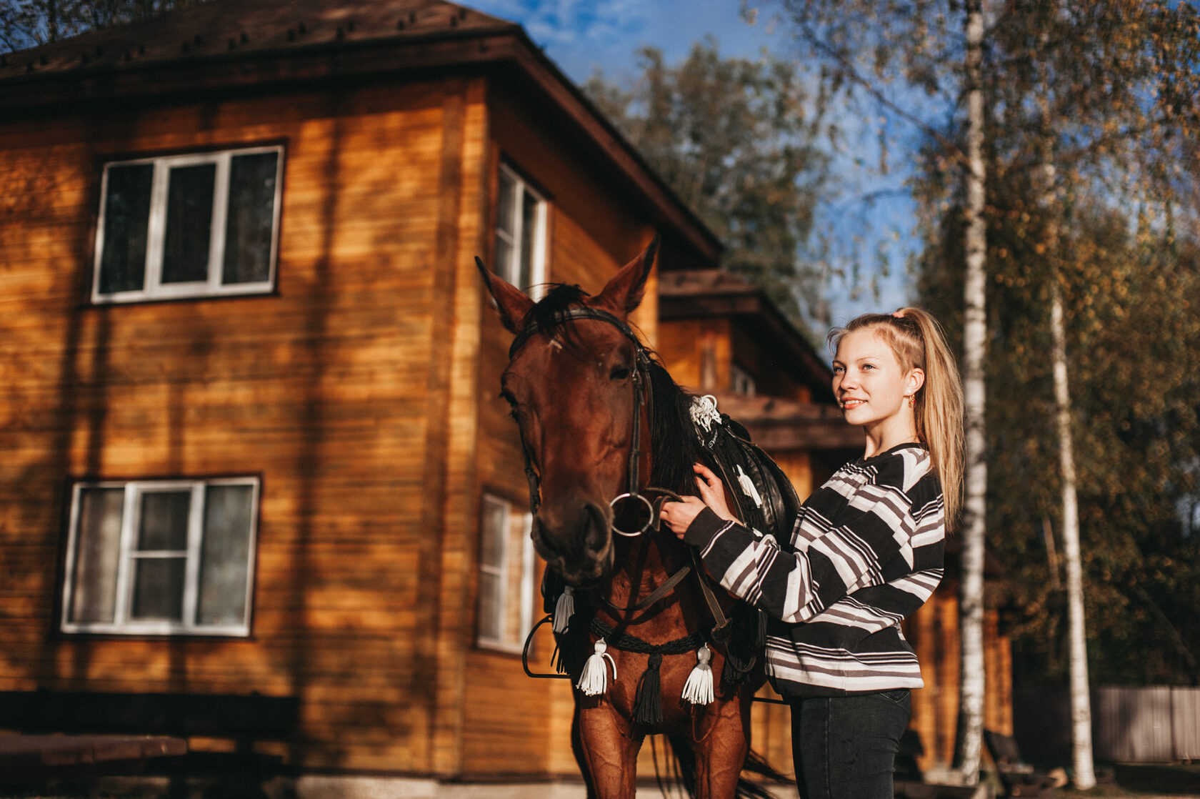
[[[598,68],[610,81],[632,78],[636,73],[636,52],[650,44],[659,48],[667,64],[682,60],[694,42],[712,36],[725,56],[756,58],[763,48],[776,56],[794,53],[786,28],[770,19],[769,11],[757,14],[754,24],[743,18],[742,0],[464,0],[484,13],[510,19],[524,26],[529,38],[576,84],[584,83]],[[751,8],[755,4],[746,2]],[[751,12],[752,13],[752,12]],[[871,145],[874,147],[874,145]],[[864,160],[870,161],[869,157]],[[858,171],[854,159],[846,155],[835,160],[835,169],[847,183],[863,186],[863,191],[878,189],[874,179]],[[889,185],[895,185],[893,177]],[[842,197],[839,205],[827,209],[827,223],[844,217],[846,203],[853,203],[853,192]],[[911,202],[889,199],[871,210],[877,234],[887,239],[889,260],[894,264],[890,276],[880,280],[878,297],[854,296],[853,286],[836,278],[830,280],[827,297],[830,321],[847,322],[864,311],[893,310],[908,300],[910,286],[904,260],[913,246]],[[895,231],[898,234],[893,234]],[[834,235],[848,231],[833,231]],[[864,248],[872,252],[874,246]],[[864,269],[874,274],[871,264]],[[862,287],[862,284],[859,285]]]

